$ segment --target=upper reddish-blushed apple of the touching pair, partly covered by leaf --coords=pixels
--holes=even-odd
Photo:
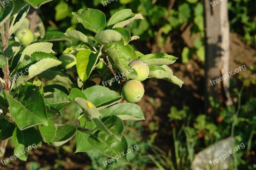
[[[134,60],[131,63],[129,63],[128,66],[131,66],[134,70],[136,70],[138,77],[134,78],[135,80],[143,81],[146,78],[148,78],[149,68],[146,63],[140,60]]]

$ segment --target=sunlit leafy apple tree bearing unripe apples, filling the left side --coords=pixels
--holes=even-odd
[[[4,78],[0,78],[4,85],[3,94],[0,93],[0,140],[12,137],[14,152],[25,153],[18,157],[21,160],[27,160],[25,148],[29,145],[41,146],[43,141],[60,146],[74,136],[75,152],[97,149],[108,157],[127,152],[123,121],[145,120],[141,108],[131,103],[144,94],[138,75],[162,78],[181,87],[183,82],[167,66],[177,58],[164,53],[144,55],[129,45],[139,37],[131,36],[124,27],[143,19],[130,9],[116,12],[108,22],[99,10],[80,9],[72,14],[94,36],[68,28],[65,33],[47,32],[44,37],[34,33],[35,43],[24,46],[15,33],[24,26],[29,5],[38,8],[41,4],[17,0],[0,12],[0,67],[4,72]],[[83,45],[65,49],[59,60],[50,41],[67,39],[77,39]],[[95,78],[100,83],[96,84]],[[58,84],[45,85],[43,79]],[[139,100],[131,97],[138,97],[134,91],[140,95]],[[122,103],[124,96],[131,102]],[[77,111],[70,113],[76,121],[54,122],[54,117],[61,117],[60,109],[70,102],[77,106]],[[4,154],[5,148],[1,150]],[[126,156],[119,161],[129,164]]]

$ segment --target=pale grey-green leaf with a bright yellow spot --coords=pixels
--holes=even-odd
[[[88,100],[84,98],[77,97],[75,102],[78,104],[79,107],[82,108],[84,115],[87,120],[92,120],[93,118],[99,118],[100,113],[97,108]]]

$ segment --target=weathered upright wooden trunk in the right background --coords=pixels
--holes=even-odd
[[[217,2],[219,2],[217,4]],[[205,6],[205,82],[204,110],[211,112],[209,97],[231,105],[229,93],[229,24],[228,1],[204,0]],[[216,79],[223,77],[222,81]],[[221,78],[220,78],[221,79]]]

